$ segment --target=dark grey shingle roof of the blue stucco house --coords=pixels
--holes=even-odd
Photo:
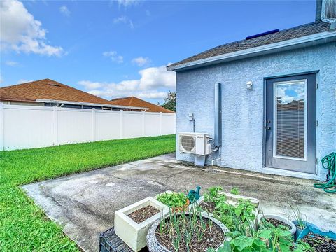
[[[295,38],[302,38],[304,36],[320,34],[325,31],[330,31],[330,23],[318,20],[316,22],[311,22],[306,25],[300,25],[298,27],[284,29],[276,33],[258,36],[256,38],[251,38],[251,39],[244,39],[241,41],[227,43],[224,45],[219,45],[219,46],[216,46],[215,48],[212,48],[210,50],[206,50],[197,55],[194,55],[193,57],[188,57],[187,59],[183,59],[180,62],[171,64],[167,66],[167,69],[176,70],[182,67],[186,67],[190,64],[193,64],[193,62],[195,63],[200,62],[201,64],[202,60],[204,63],[204,59],[209,59],[212,57],[214,57],[215,59],[215,57],[219,57],[220,55],[228,55],[228,54],[232,54],[234,52],[239,52],[243,50],[246,50],[247,52],[247,50],[251,48],[259,48],[265,45],[280,43],[283,41],[289,41]],[[330,31],[330,32],[335,36],[335,31]],[[288,45],[283,45],[283,47],[284,46],[288,46]]]

